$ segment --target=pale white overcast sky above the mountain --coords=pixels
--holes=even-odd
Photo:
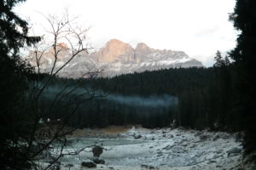
[[[181,50],[204,65],[214,63],[217,50],[236,46],[238,32],[229,21],[235,0],[27,0],[15,12],[31,23],[42,14],[61,14],[65,8],[90,27],[88,41],[101,48],[110,39],[136,47]],[[42,13],[42,14],[39,14]],[[34,30],[40,30],[34,25]]]

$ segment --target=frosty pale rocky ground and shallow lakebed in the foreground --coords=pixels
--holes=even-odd
[[[102,140],[100,143],[106,149],[100,156],[106,164],[99,164],[91,169],[238,170],[241,168],[243,152],[241,142],[236,140],[235,134],[230,133],[182,128],[132,127],[125,133],[118,133],[114,139],[99,140]],[[83,146],[74,143],[73,147]],[[70,150],[72,149],[66,151]],[[64,156],[61,159],[61,169],[69,169],[68,164],[73,164],[70,169],[86,169],[80,166],[81,162],[92,158],[90,149],[81,152],[79,156]]]

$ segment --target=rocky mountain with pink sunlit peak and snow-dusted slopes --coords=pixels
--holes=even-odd
[[[59,43],[60,49],[55,71],[61,67],[71,56],[65,43]],[[49,72],[54,64],[53,49],[38,52],[42,54],[40,70]],[[36,65],[35,52],[31,52],[27,59],[33,66]],[[101,77],[113,77],[141,71],[154,71],[174,67],[203,67],[200,61],[189,58],[183,51],[160,50],[149,48],[145,43],[138,43],[136,48],[117,39],[108,41],[104,47],[87,54],[85,52],[76,56],[60,72],[61,77],[80,77],[88,71],[102,70]]]

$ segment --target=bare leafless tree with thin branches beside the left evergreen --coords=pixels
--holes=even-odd
[[[77,26],[77,18],[70,18],[67,11],[61,17],[44,15],[44,18],[49,24],[49,29],[46,29],[43,41],[35,44],[30,53],[30,57],[34,59],[33,66],[35,66],[36,77],[31,83],[31,90],[28,94],[32,129],[29,138],[23,144],[27,148],[26,159],[32,162],[35,168],[55,169],[62,156],[76,155],[85,149],[85,147],[80,150],[74,149],[68,153],[63,151],[69,144],[67,134],[73,133],[81,123],[77,122],[78,126],[76,127],[67,126],[71,117],[75,115],[79,106],[84,102],[94,99],[96,96],[103,97],[104,95],[96,94],[91,88],[85,88],[86,86],[84,86],[82,92],[78,93],[78,81],[73,83],[64,82],[64,85],[51,97],[47,111],[42,111],[41,101],[53,77],[58,76],[73,59],[83,53],[87,54],[90,50],[86,35],[88,28],[84,29]],[[65,58],[61,65],[57,65],[62,57],[61,53],[66,50],[68,51],[68,57]],[[48,70],[41,68],[45,54],[48,54],[53,59]],[[98,72],[100,71],[88,71],[82,74],[80,78],[92,77]],[[41,73],[47,73],[48,76],[42,79]],[[59,105],[62,110],[69,108],[68,114],[60,117],[51,117],[55,113],[56,105]],[[55,144],[55,152],[52,151],[52,144]],[[48,160],[48,162],[43,165],[40,160]]]

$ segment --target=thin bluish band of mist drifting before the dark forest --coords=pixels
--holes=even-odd
[[[101,89],[81,88],[70,86],[65,88],[64,85],[50,85],[45,88],[42,98],[42,110],[47,111],[49,105],[54,101],[55,108],[59,108],[59,114],[68,113],[68,109],[63,110],[63,105],[67,105],[70,101],[83,101],[79,105],[78,113],[87,116],[109,115],[110,117],[125,115],[133,116],[155,116],[160,114],[174,114],[177,109],[178,99],[169,94],[159,95],[127,95],[127,94],[108,94]],[[60,95],[59,95],[60,94]],[[93,97],[90,99],[91,95]],[[86,100],[89,99],[89,100]],[[72,111],[74,105],[70,105]],[[122,116],[121,116],[122,115]],[[110,118],[109,118],[110,119]]]

